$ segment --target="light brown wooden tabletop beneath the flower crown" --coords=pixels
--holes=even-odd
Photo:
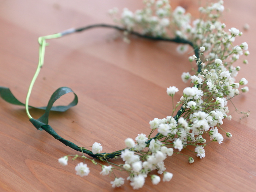
[[[198,16],[195,0],[172,0]],[[170,182],[152,185],[150,178],[141,191],[256,191],[256,1],[226,0],[224,22],[227,29],[236,27],[244,35],[236,43],[248,42],[248,65],[242,64],[237,80],[245,77],[249,92],[233,99],[240,110],[251,110],[249,118],[224,121],[231,132],[221,145],[206,147],[206,157],[188,163],[182,155],[167,158]],[[138,0],[0,0],[0,85],[9,87],[25,102],[27,89],[38,62],[37,38],[94,23],[113,23],[109,8],[142,8]],[[249,31],[242,30],[244,23]],[[183,90],[180,75],[190,69],[188,56],[176,53],[177,44],[153,42],[131,37],[131,43],[113,40],[116,31],[93,29],[84,33],[49,40],[45,64],[35,83],[30,105],[45,106],[50,95],[61,86],[71,87],[79,104],[65,113],[50,113],[49,124],[63,138],[91,146],[102,143],[103,152],[125,147],[124,139],[138,133],[150,133],[148,122],[171,114],[172,102],[166,87]],[[112,39],[112,40],[111,40]],[[178,101],[182,91],[175,99]],[[72,98],[67,95],[57,104]],[[58,158],[76,151],[66,147],[29,122],[25,109],[0,99],[0,191],[80,192],[132,191],[129,182],[113,189],[113,177],[101,176],[100,167],[87,162],[89,176],[81,178],[74,167],[79,160],[61,166]],[[230,111],[234,110],[229,103]],[[31,110],[38,118],[41,111]],[[223,134],[225,135],[225,134]],[[127,173],[117,173],[126,178]]]

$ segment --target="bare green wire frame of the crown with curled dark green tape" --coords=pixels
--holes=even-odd
[[[96,159],[101,159],[102,161],[105,161],[104,159],[106,158],[114,158],[116,156],[120,156],[121,155],[121,151],[123,150],[118,150],[115,151],[113,153],[97,153],[97,154],[93,154],[90,150],[87,150],[83,147],[79,147],[76,144],[62,138],[61,136],[59,136],[54,129],[48,125],[48,117],[49,117],[49,112],[53,107],[53,103],[59,99],[62,95],[66,94],[66,93],[74,93],[70,88],[68,87],[60,87],[59,89],[57,89],[51,96],[47,107],[45,108],[45,113],[38,118],[37,120],[35,120],[31,114],[29,113],[29,98],[31,95],[31,91],[33,89],[35,80],[38,77],[38,74],[42,68],[42,66],[44,65],[44,56],[45,56],[45,48],[48,45],[48,43],[46,42],[47,39],[54,39],[54,38],[60,38],[64,35],[68,35],[68,34],[72,34],[72,33],[76,33],[76,32],[81,32],[84,30],[88,30],[91,28],[95,28],[95,27],[107,27],[107,28],[112,28],[112,29],[117,29],[119,31],[127,31],[127,29],[119,27],[119,26],[114,26],[114,25],[106,25],[106,24],[97,24],[97,25],[89,25],[86,27],[82,27],[82,28],[78,28],[78,29],[68,29],[65,31],[62,31],[61,33],[56,33],[56,34],[52,34],[52,35],[47,35],[47,36],[43,36],[43,37],[39,37],[38,38],[38,42],[39,42],[39,61],[38,61],[38,66],[37,69],[35,71],[35,74],[31,80],[30,86],[29,86],[29,90],[27,92],[27,97],[26,97],[26,103],[25,103],[25,107],[26,107],[26,113],[27,116],[30,118],[30,122],[34,125],[34,127],[36,127],[38,130],[45,130],[46,132],[48,132],[50,135],[52,135],[55,139],[59,140],[60,142],[64,143],[66,146],[73,148],[76,151],[80,151],[82,153],[86,153],[87,155],[90,155],[93,158]],[[134,31],[128,31],[128,33],[136,35],[138,37],[142,37],[142,38],[146,38],[146,39],[151,39],[151,40],[155,40],[155,41],[167,41],[167,42],[175,42],[175,43],[181,43],[181,44],[188,44],[191,45],[192,48],[194,49],[195,52],[195,56],[197,58],[199,58],[199,49],[196,45],[194,45],[191,41],[188,41],[186,39],[182,39],[180,37],[175,37],[175,38],[162,38],[162,37],[152,37],[152,36],[148,36],[148,35],[142,35],[140,33],[134,32]],[[200,64],[198,65],[198,69],[197,72],[201,72],[201,66]],[[58,107],[64,107],[64,109],[58,109],[57,111],[65,111],[67,109],[69,109],[72,106],[75,106],[78,102],[78,97],[75,95],[75,99],[68,105],[68,106],[57,106],[55,108]],[[177,120],[181,114],[184,112],[184,108],[181,107],[180,110],[178,110],[176,116],[174,116],[173,118],[175,120]],[[149,140],[146,142],[146,144],[148,145],[150,143],[150,141],[152,139],[159,139],[159,133],[154,136],[153,138],[148,138]],[[160,138],[161,139],[161,138]]]

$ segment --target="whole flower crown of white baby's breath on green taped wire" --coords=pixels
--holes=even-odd
[[[61,165],[67,165],[69,157],[72,157],[73,160],[76,158],[90,160],[95,165],[101,166],[100,174],[113,174],[114,180],[110,182],[112,187],[120,187],[124,184],[124,178],[115,176],[114,172],[117,170],[128,172],[127,180],[131,181],[130,185],[133,189],[143,187],[146,177],[153,170],[157,170],[159,175],[163,174],[162,181],[170,181],[173,174],[167,172],[164,165],[167,156],[172,156],[174,153],[180,154],[181,150],[187,149],[187,146],[192,146],[194,151],[191,151],[191,156],[195,153],[197,157],[204,158],[204,147],[208,143],[218,142],[221,144],[223,133],[231,138],[231,133],[222,128],[222,120],[224,118],[231,120],[232,118],[227,102],[240,94],[238,90],[240,85],[243,86],[248,83],[245,78],[242,78],[239,83],[236,82],[235,77],[240,71],[240,67],[233,67],[233,63],[241,55],[249,55],[248,44],[244,42],[241,45],[233,45],[235,38],[242,33],[234,27],[225,31],[225,24],[219,21],[224,10],[222,0],[207,7],[200,7],[200,19],[195,19],[192,22],[190,14],[186,13],[184,8],[178,6],[172,10],[168,0],[144,0],[144,3],[145,7],[135,12],[125,8],[121,18],[117,16],[117,8],[109,10],[109,14],[118,25],[90,25],[39,37],[38,68],[31,81],[25,104],[18,101],[8,88],[0,87],[1,97],[5,101],[26,107],[27,115],[34,127],[38,130],[45,130],[66,146],[82,152],[82,155],[61,157],[59,159]],[[37,108],[45,110],[40,118],[35,120],[29,113],[29,107],[34,108],[29,106],[29,98],[34,82],[44,64],[46,40],[95,27],[108,27],[123,31],[125,42],[130,41],[128,34],[132,34],[155,41],[179,43],[177,52],[180,54],[186,53],[191,46],[194,54],[188,59],[192,64],[196,63],[197,65],[197,70],[192,68],[190,72],[182,73],[182,81],[185,83],[190,81],[190,85],[183,90],[180,101],[173,105],[172,114],[163,119],[154,118],[149,122],[151,132],[148,136],[140,133],[135,140],[127,138],[125,139],[127,148],[113,153],[101,153],[102,146],[97,142],[91,146],[91,150],[88,149],[89,147],[79,147],[59,136],[48,124],[50,110],[64,112],[78,103],[77,95],[68,87],[57,89],[46,107]],[[244,60],[243,63],[248,64],[248,61]],[[243,87],[241,91],[248,92],[248,87]],[[172,97],[174,103],[174,95],[178,92],[178,88],[170,86],[166,92]],[[69,105],[53,106],[57,99],[67,93],[74,93],[75,96]],[[174,116],[176,111],[177,114]],[[237,108],[234,112],[242,113],[244,117],[249,116],[249,112],[239,112]],[[207,134],[210,136],[210,141],[206,140]],[[189,163],[194,162],[193,157],[186,156]],[[93,158],[105,162],[105,165]],[[120,165],[113,163],[110,160],[112,158],[122,158],[124,163]],[[78,163],[75,170],[76,174],[81,177],[87,176],[90,172],[89,167],[84,162]],[[156,185],[160,182],[161,177],[159,175],[150,175],[153,184]]]

